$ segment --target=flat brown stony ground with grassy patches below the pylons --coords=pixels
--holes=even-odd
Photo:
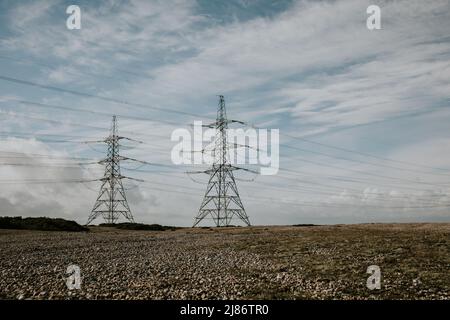
[[[450,299],[450,224],[0,230],[0,298]]]

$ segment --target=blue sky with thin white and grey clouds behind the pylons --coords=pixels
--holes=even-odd
[[[450,1],[2,0],[0,215],[85,223],[106,148],[84,142],[117,114],[143,142],[122,154],[166,165],[122,163],[135,220],[192,225],[206,167],[170,137],[224,95],[280,132],[276,175],[236,172],[252,224],[450,222],[449,30]]]

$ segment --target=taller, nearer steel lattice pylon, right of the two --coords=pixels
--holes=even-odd
[[[233,171],[241,168],[232,166],[228,158],[228,123],[225,99],[223,96],[219,96],[216,122],[208,125],[208,127],[216,129],[213,150],[214,163],[209,170],[204,171],[210,177],[205,197],[195,217],[194,227],[208,215],[211,216],[217,227],[229,226],[235,216],[250,226],[250,220],[245,212],[233,175]]]

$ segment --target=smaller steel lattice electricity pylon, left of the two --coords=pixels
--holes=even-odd
[[[86,225],[89,225],[100,215],[105,219],[106,223],[115,223],[119,219],[120,215],[124,216],[128,221],[134,222],[130,206],[128,205],[127,197],[125,195],[125,189],[123,188],[122,179],[130,179],[136,181],[142,180],[126,177],[120,173],[120,161],[138,161],[136,159],[123,157],[119,154],[119,141],[122,139],[136,141],[130,138],[121,137],[117,134],[117,118],[116,116],[113,116],[109,137],[102,141],[86,142],[103,142],[108,146],[106,159],[99,162],[99,164],[105,165],[105,174],[103,178],[98,179],[99,181],[102,181],[102,185],[100,187],[100,192],[98,194],[97,200],[95,201],[95,205],[91,211],[91,214],[89,215],[89,219]],[[140,143],[140,141],[136,142]]]

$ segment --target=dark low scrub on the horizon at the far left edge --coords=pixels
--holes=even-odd
[[[23,229],[43,231],[89,231],[75,221],[60,218],[22,218],[22,217],[0,217],[0,229]]]

